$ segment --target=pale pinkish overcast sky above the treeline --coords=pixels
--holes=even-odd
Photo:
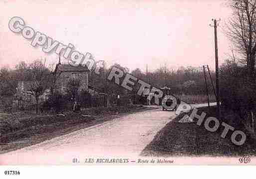
[[[18,61],[47,59],[58,62],[55,53],[33,47],[8,28],[13,16],[25,25],[75,50],[91,53],[107,66],[119,63],[130,70],[153,71],[161,66],[209,65],[215,68],[214,28],[231,16],[227,0],[1,0],[0,67]],[[219,62],[230,53],[230,43],[218,28]]]

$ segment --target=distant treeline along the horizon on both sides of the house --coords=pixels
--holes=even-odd
[[[33,71],[36,66],[41,63],[40,60],[35,60],[32,63],[25,63],[24,61],[19,62],[14,69],[2,67],[0,69],[1,73],[1,83],[0,83],[0,96],[11,96],[15,94],[17,82],[18,81],[32,81]],[[141,69],[136,68],[130,71],[128,68],[123,67],[120,64],[114,64],[109,68],[105,66],[101,68],[100,74],[94,72],[89,72],[89,84],[91,86],[102,89],[103,92],[109,94],[127,94],[135,93],[139,89],[139,84],[135,85],[134,92],[125,90],[123,87],[116,85],[112,81],[107,80],[107,75],[109,74],[112,67],[118,67],[124,72],[130,73],[136,76],[152,86],[158,88],[168,86],[171,88],[173,94],[186,94],[186,95],[205,95],[205,78],[203,67],[180,67],[178,69],[170,69],[167,67],[161,67],[154,71],[143,72]],[[48,85],[51,83],[51,71],[52,69],[46,68],[46,73],[48,73]],[[208,88],[209,94],[214,94],[212,89],[212,84],[208,75]],[[213,83],[215,85],[215,73],[211,71],[213,77]]]

